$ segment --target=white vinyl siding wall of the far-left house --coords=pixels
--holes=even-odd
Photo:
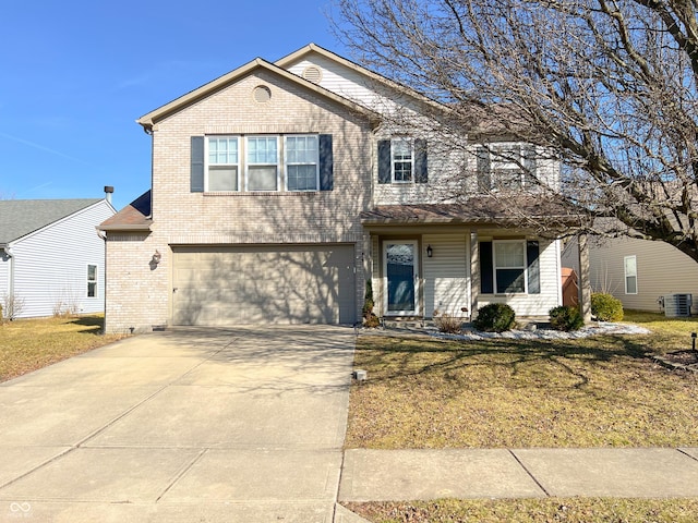
[[[112,215],[101,200],[13,243],[14,294],[24,303],[19,317],[104,312],[104,299],[87,297],[86,267],[98,266],[95,292],[104,296],[105,243],[95,227]]]

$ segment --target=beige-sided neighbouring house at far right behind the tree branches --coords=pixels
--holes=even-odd
[[[661,312],[676,294],[691,294],[694,311],[698,306],[698,263],[663,242],[590,241],[589,281],[595,292],[621,300],[624,308]]]

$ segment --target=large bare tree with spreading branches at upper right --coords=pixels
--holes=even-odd
[[[358,62],[449,107],[462,134],[488,121],[558,158],[580,232],[698,262],[696,0],[337,2]]]

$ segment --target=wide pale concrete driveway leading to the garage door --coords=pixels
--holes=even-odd
[[[0,384],[0,521],[333,521],[353,330],[143,335]]]

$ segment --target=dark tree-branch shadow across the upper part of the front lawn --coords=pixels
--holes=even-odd
[[[458,369],[500,367],[516,376],[526,366],[553,364],[577,379],[576,388],[589,382],[585,368],[623,361],[647,361],[653,354],[641,340],[623,336],[599,336],[581,340],[465,340],[429,338],[373,338],[356,348],[372,380],[452,373]]]

